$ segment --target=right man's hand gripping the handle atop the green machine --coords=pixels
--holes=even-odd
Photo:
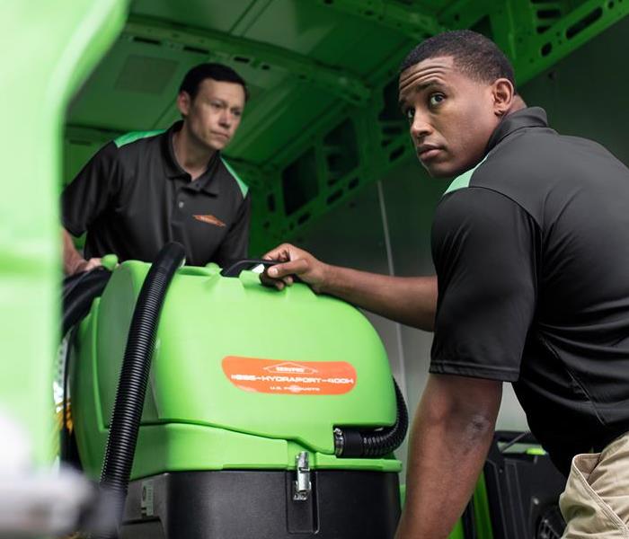
[[[312,254],[297,249],[290,243],[282,243],[263,257],[266,261],[279,261],[280,263],[270,267],[261,275],[264,284],[277,287],[279,290],[290,286],[298,277],[310,285],[314,292],[320,294],[324,291],[329,266],[318,261]]]

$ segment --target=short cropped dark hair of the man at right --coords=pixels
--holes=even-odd
[[[455,66],[465,75],[492,84],[506,78],[516,86],[513,66],[496,44],[471,30],[445,31],[421,43],[404,58],[400,73],[428,58],[453,57]]]

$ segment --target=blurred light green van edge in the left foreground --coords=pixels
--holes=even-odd
[[[61,128],[71,93],[116,38],[122,0],[0,3],[0,411],[30,437],[33,458],[53,442],[52,365],[58,341]],[[28,204],[24,197],[28,198]]]

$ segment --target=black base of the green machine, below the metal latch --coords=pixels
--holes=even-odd
[[[120,539],[393,539],[397,473],[312,472],[306,500],[293,499],[295,479],[247,470],[131,482]]]

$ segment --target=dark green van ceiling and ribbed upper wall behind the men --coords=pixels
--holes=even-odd
[[[626,0],[173,0],[131,3],[125,31],[66,119],[70,181],[106,141],[166,128],[192,65],[251,85],[226,156],[252,188],[252,253],[295,238],[412,158],[397,67],[443,29],[492,37],[525,84],[629,11]],[[419,165],[418,165],[419,166]]]

